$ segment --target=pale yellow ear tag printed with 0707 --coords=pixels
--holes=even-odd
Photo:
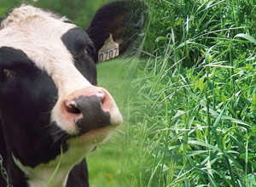
[[[107,61],[108,59],[113,59],[119,55],[119,43],[113,42],[112,34],[105,41],[102,48],[99,50],[98,53],[98,60],[99,62]]]

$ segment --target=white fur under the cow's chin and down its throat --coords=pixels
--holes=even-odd
[[[90,133],[85,133],[80,138],[69,139],[69,149],[61,156],[57,156],[55,160],[49,161],[47,164],[40,164],[35,168],[25,167],[13,155],[15,163],[29,177],[28,184],[31,187],[44,187],[48,184],[49,179],[55,171],[57,164],[61,160],[61,165],[56,173],[51,186],[64,187],[67,183],[67,176],[72,167],[82,161],[84,154],[88,155],[95,146],[101,144],[112,132],[113,127],[105,127],[95,129]]]

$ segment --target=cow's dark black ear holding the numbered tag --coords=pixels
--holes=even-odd
[[[143,3],[134,0],[108,3],[100,8],[86,30],[97,54],[106,41],[118,43],[119,54],[124,53],[143,28],[145,9]]]

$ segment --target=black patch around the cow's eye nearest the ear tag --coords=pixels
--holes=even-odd
[[[73,28],[61,40],[73,55],[76,68],[92,85],[96,85],[96,49],[86,32],[79,27]]]

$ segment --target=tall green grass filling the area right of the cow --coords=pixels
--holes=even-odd
[[[94,153],[113,170],[95,186],[256,186],[255,1],[147,3],[125,124]]]

